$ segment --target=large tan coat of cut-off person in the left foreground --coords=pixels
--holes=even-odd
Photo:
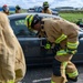
[[[18,83],[25,74],[24,54],[11,29],[0,12],[0,83]]]

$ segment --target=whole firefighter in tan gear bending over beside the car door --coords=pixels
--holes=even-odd
[[[63,19],[40,19],[38,14],[28,15],[25,24],[30,30],[42,32],[51,43],[44,48],[55,51],[51,83],[76,82],[79,72],[71,59],[79,45],[79,27]]]

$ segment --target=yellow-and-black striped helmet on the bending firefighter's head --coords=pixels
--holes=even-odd
[[[28,27],[28,29],[32,29],[34,27],[34,24],[37,24],[39,21],[41,20],[41,18],[35,14],[35,15],[27,15],[25,18],[25,24]]]

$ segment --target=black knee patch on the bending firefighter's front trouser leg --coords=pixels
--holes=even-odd
[[[61,76],[61,62],[58,60],[53,61],[53,74],[56,76]]]

